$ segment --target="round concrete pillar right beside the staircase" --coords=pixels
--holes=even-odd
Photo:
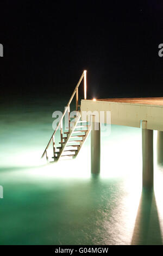
[[[101,127],[100,123],[92,120],[91,130],[91,173],[100,172],[100,157],[101,157]]]

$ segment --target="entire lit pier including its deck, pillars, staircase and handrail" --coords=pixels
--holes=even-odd
[[[84,96],[79,102],[78,87],[84,81]],[[157,158],[163,161],[163,97],[87,99],[86,70],[74,89],[65,107],[65,111],[49,140],[42,157],[49,163],[61,159],[77,157],[83,143],[91,132],[91,172],[100,172],[101,163],[101,123],[108,123],[107,115],[99,119],[101,112],[110,113],[110,124],[139,127],[142,129],[142,184],[153,187],[153,131],[158,131]],[[76,95],[76,118],[71,120],[70,105]],[[90,113],[89,115],[84,113]],[[98,118],[96,118],[96,115]],[[63,124],[67,116],[68,130]],[[91,118],[90,118],[91,117]],[[91,121],[90,121],[91,119]],[[60,146],[55,144],[55,134],[60,130]],[[53,154],[49,156],[48,148],[52,144]],[[118,145],[117,145],[118,147]],[[134,147],[134,145],[133,145]]]

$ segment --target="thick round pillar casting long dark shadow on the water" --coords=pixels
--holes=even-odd
[[[153,130],[142,121],[142,185],[153,188]]]

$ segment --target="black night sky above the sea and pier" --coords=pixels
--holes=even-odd
[[[1,0],[1,97],[163,96],[163,2]]]

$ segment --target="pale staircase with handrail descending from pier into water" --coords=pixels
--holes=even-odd
[[[65,111],[62,114],[62,117],[53,132],[51,139],[49,140],[45,151],[42,154],[42,157],[46,156],[48,162],[56,162],[61,159],[74,158],[78,155],[80,149],[82,148],[85,139],[89,135],[91,129],[87,121],[81,120],[80,114],[80,105],[78,105],[78,87],[84,78],[84,99],[86,100],[86,70],[84,70],[82,76],[77,83],[74,92],[68,101]],[[76,95],[76,117],[71,121],[70,117],[70,104],[73,100],[74,95]],[[68,115],[68,131],[63,131],[64,119]],[[60,130],[60,147],[57,147],[55,143],[55,136],[57,131]],[[48,155],[49,145],[52,144],[52,155]]]

